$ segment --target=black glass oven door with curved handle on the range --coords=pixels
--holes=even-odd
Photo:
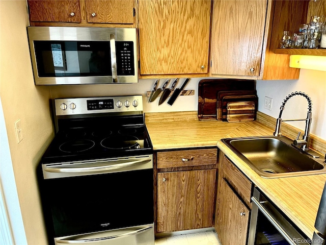
[[[42,168],[40,190],[52,242],[154,222],[152,155]]]

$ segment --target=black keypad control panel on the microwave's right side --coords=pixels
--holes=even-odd
[[[116,41],[117,73],[123,76],[134,75],[133,42]]]

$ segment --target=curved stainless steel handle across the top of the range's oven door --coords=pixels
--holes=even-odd
[[[45,168],[44,171],[50,173],[86,173],[86,172],[98,172],[98,171],[105,171],[105,170],[113,170],[131,166],[137,166],[141,164],[146,164],[150,162],[151,159],[146,160],[138,160],[138,161],[131,161],[131,162],[124,162],[124,163],[117,163],[111,165],[104,165],[104,166],[91,166],[91,167],[52,167],[52,168]]]

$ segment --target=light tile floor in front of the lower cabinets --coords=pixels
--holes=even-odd
[[[207,231],[157,238],[155,245],[221,245],[221,242],[215,231]]]

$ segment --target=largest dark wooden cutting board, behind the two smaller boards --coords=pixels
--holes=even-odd
[[[255,90],[255,80],[203,79],[198,83],[198,118],[216,120],[216,95],[219,91]]]

